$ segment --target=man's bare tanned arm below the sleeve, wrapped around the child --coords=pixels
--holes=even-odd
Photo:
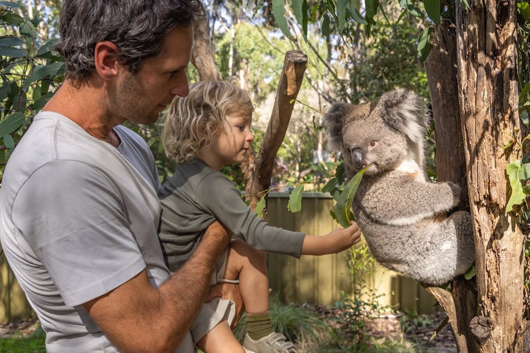
[[[121,352],[173,352],[195,320],[230,238],[216,221],[190,259],[159,288],[151,285],[144,269],[83,307]]]

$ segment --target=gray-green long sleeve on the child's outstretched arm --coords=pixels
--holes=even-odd
[[[207,175],[198,186],[197,198],[207,212],[253,248],[300,257],[305,234],[264,222],[243,202],[235,184],[224,175]]]

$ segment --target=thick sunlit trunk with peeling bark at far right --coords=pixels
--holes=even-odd
[[[505,215],[519,129],[516,0],[456,2],[458,96],[473,219],[480,352],[523,352],[524,235]]]

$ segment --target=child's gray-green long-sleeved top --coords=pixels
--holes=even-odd
[[[160,193],[159,234],[170,270],[182,267],[216,219],[252,247],[299,258],[304,233],[272,227],[241,199],[235,183],[200,160],[179,163]]]

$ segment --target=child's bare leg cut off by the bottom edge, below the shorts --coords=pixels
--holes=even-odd
[[[226,320],[219,322],[197,342],[205,353],[245,353]]]

